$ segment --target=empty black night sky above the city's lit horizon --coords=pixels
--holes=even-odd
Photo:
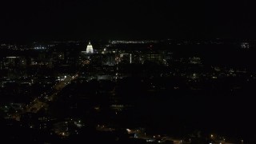
[[[9,0],[0,6],[0,41],[256,37],[255,5],[246,0]]]

